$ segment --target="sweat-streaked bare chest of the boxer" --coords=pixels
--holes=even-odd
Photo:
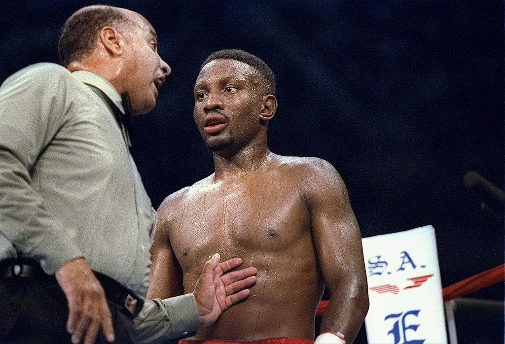
[[[310,215],[296,187],[282,181],[247,181],[188,192],[172,248],[185,269],[220,253],[276,254],[310,238]]]

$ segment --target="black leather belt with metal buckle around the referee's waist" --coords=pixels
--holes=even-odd
[[[142,310],[144,300],[135,293],[103,273],[96,271],[93,273],[102,284],[107,300],[116,305],[125,315],[133,318]],[[47,275],[36,261],[25,258],[6,259],[0,262],[0,277],[54,278]]]

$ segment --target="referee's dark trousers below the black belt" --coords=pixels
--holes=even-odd
[[[115,343],[133,344],[133,320],[111,302],[109,308]],[[67,299],[54,276],[0,277],[1,344],[70,343],[67,318]],[[96,343],[108,343],[102,329]]]

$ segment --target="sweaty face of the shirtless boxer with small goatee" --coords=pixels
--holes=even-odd
[[[217,59],[201,69],[193,118],[207,148],[240,148],[254,141],[260,130],[260,90],[258,72],[242,62]]]

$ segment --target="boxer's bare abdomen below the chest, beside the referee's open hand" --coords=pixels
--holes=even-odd
[[[277,263],[273,258],[268,274],[259,268],[248,299],[225,311],[214,326],[200,330],[197,338],[314,338],[314,316],[323,292],[317,267],[308,271],[307,261],[294,258],[286,264],[281,257]]]

